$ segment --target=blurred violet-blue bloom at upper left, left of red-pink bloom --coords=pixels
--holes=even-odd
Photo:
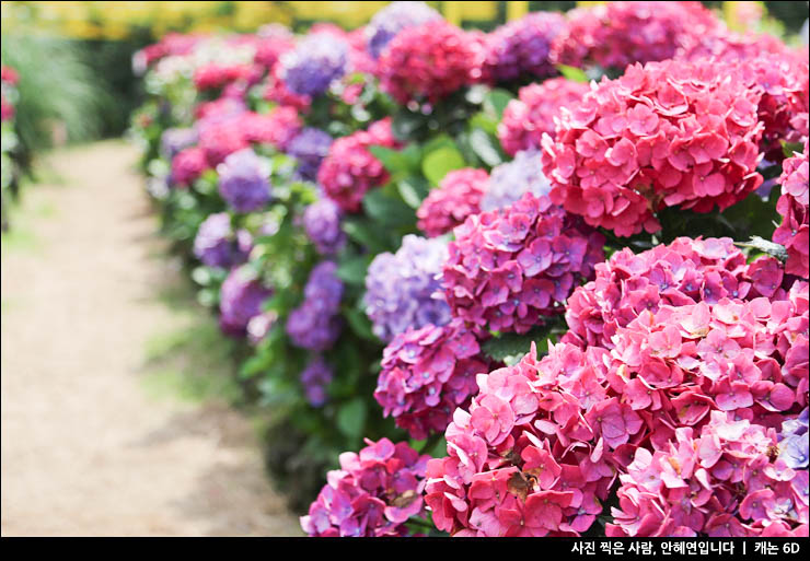
[[[331,33],[309,35],[281,55],[285,84],[298,95],[320,95],[346,73],[348,55],[349,45],[340,37]]]

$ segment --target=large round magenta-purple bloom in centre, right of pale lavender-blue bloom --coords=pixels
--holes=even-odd
[[[526,332],[604,259],[604,237],[547,197],[525,194],[454,230],[442,288],[451,313],[495,331]]]

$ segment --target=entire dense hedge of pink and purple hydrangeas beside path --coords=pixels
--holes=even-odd
[[[304,531],[806,536],[806,60],[696,2],[140,52]]]

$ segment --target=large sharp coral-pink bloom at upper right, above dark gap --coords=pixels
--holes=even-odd
[[[544,135],[549,196],[620,236],[656,232],[653,213],[726,209],[762,184],[759,94],[707,60],[627,67]]]

